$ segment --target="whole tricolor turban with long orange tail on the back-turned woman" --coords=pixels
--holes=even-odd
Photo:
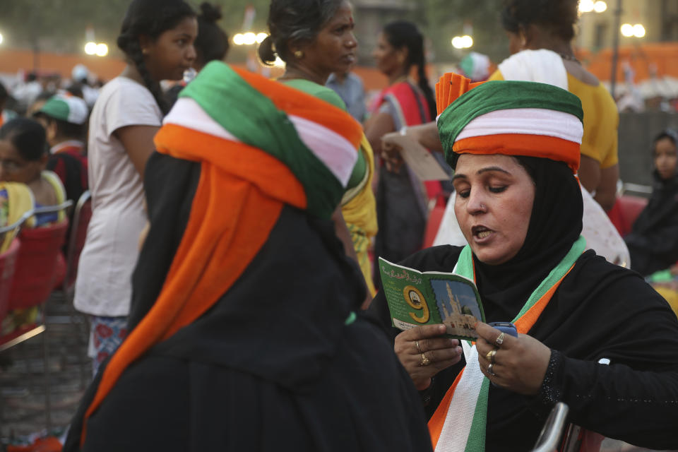
[[[87,418],[126,367],[230,290],[286,204],[330,218],[361,137],[361,126],[341,109],[221,62],[182,91],[155,145],[201,164],[189,221],[160,295],[136,309],[141,319],[103,371],[81,444]]]

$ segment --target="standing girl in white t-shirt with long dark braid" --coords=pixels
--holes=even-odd
[[[167,107],[161,80],[179,80],[196,58],[196,15],[182,0],[134,0],[118,47],[127,66],[101,90],[90,117],[93,215],[81,254],[75,307],[90,314],[94,372],[126,335],[131,274],[145,226],[143,169]]]

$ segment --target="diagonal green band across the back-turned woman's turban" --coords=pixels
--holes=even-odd
[[[341,183],[302,142],[287,114],[230,66],[219,61],[208,64],[179,97],[195,100],[240,141],[285,163],[304,185],[309,213],[332,215],[343,195]]]

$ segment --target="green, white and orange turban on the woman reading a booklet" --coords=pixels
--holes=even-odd
[[[441,77],[436,95],[451,167],[460,154],[503,154],[566,162],[577,172],[583,110],[576,95],[545,83],[469,83],[457,74]]]

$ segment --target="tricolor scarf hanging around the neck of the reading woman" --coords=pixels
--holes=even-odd
[[[561,281],[585,250],[585,244],[583,237],[579,237],[566,256],[530,295],[523,309],[513,319],[518,333],[530,331]],[[461,251],[453,273],[475,280],[470,246],[466,245]],[[475,343],[462,341],[462,346],[466,366],[429,420],[429,432],[436,452],[485,450],[489,379],[480,371]]]

